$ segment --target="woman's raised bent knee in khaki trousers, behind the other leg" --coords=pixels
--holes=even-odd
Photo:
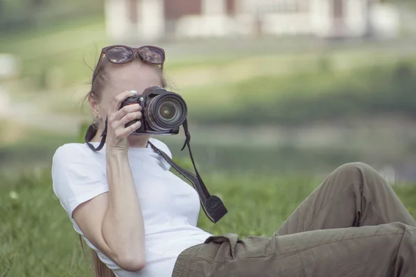
[[[277,233],[403,222],[416,226],[394,190],[365,163],[347,163],[335,171],[288,217]]]

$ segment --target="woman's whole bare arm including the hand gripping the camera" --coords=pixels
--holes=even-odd
[[[118,109],[131,96],[121,93],[112,103],[108,116],[106,143],[108,193],[98,195],[78,206],[73,219],[94,246],[127,271],[139,271],[145,266],[144,222],[128,161],[127,136],[140,127],[140,121],[125,128],[125,124],[140,118],[139,105]]]

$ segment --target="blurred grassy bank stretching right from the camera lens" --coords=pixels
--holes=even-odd
[[[302,125],[383,114],[414,118],[415,60],[345,73],[332,72],[330,66],[327,60],[317,71],[194,89],[186,95],[190,116],[198,123],[237,125]]]

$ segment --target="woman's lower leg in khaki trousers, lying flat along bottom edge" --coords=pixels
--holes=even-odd
[[[187,277],[413,277],[416,228],[400,222],[204,244]]]

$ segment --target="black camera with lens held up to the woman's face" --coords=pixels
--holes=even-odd
[[[126,98],[121,108],[126,105],[139,104],[142,116],[141,127],[132,132],[132,135],[172,135],[178,134],[180,125],[187,119],[187,104],[182,97],[162,87],[148,87],[143,94]],[[125,127],[138,120],[132,120]]]

